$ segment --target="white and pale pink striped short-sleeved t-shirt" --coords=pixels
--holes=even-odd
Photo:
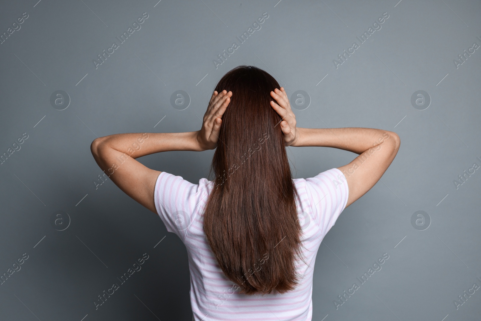
[[[312,319],[314,262],[322,239],[347,204],[347,181],[338,168],[308,179],[294,179],[303,228],[303,254],[298,261],[302,279],[296,289],[284,294],[238,294],[237,286],[220,269],[203,231],[203,214],[214,182],[205,178],[192,184],[180,176],[161,172],[154,202],[167,231],[176,233],[187,248],[190,270],[190,304],[195,321]]]

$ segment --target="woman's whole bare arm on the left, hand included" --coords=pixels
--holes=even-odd
[[[220,118],[230,101],[228,93],[214,91],[202,128],[183,133],[128,133],[95,139],[90,151],[99,167],[124,193],[157,213],[154,204],[155,182],[161,171],[141,164],[135,158],[167,151],[214,149]]]

